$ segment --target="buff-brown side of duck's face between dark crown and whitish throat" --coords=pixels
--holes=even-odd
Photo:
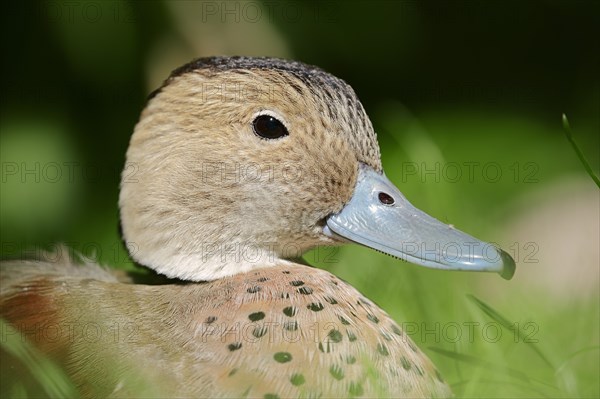
[[[323,220],[352,196],[357,126],[347,116],[322,114],[310,96],[228,103],[227,96],[198,97],[198,77],[192,80],[173,82],[155,97],[131,140],[128,162],[139,179],[124,183],[121,206],[126,240],[140,242],[138,260],[159,265],[171,256],[187,265],[186,254],[199,247],[230,242],[264,244],[278,256],[290,255],[283,247],[299,256],[332,244]],[[264,109],[286,119],[289,136],[265,140],[254,133],[253,115]],[[205,275],[198,273],[194,278]]]

